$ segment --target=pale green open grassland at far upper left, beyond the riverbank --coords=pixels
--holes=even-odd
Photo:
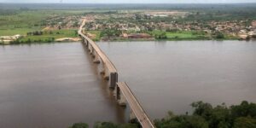
[[[0,36],[26,35],[45,27],[45,20],[55,15],[79,15],[73,10],[14,10],[10,14],[0,14]]]

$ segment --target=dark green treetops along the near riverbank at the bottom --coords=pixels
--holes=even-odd
[[[192,114],[175,115],[169,112],[166,118],[155,119],[157,128],[256,128],[256,104],[246,101],[240,105],[227,107],[224,103],[212,107],[210,103],[194,102]],[[84,123],[78,123],[70,128],[88,128]],[[111,122],[96,123],[94,128],[140,128],[135,123],[117,125]]]

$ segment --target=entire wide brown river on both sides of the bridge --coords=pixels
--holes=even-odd
[[[196,101],[256,102],[256,42],[100,42],[152,119],[190,113]],[[81,43],[0,46],[0,127],[123,123]]]

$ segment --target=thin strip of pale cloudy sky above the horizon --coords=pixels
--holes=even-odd
[[[256,0],[0,0],[0,3],[256,3]]]

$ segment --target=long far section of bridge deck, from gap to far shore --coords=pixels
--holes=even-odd
[[[94,41],[92,41],[90,38],[86,37],[84,35],[84,33],[82,32],[83,26],[85,25],[85,21],[86,20],[83,20],[83,23],[79,28],[79,35],[81,37],[85,38],[89,42],[89,44],[93,47],[93,49],[96,50],[96,53],[100,56],[100,58],[102,59],[104,64],[108,67],[109,72],[110,73],[117,73],[117,69],[114,67],[112,61],[110,61],[108,59],[108,56],[105,55],[105,53],[102,51],[102,49],[100,49],[99,46]]]

